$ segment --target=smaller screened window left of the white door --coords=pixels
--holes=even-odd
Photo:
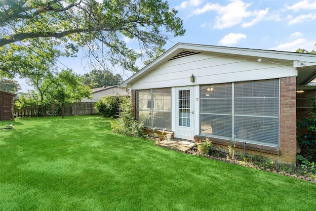
[[[171,130],[171,88],[138,90],[136,111],[145,127]]]

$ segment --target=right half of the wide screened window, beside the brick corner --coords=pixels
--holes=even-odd
[[[279,81],[235,83],[236,139],[278,146]]]

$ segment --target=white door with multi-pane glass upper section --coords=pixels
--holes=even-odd
[[[176,88],[175,137],[194,140],[194,87]]]

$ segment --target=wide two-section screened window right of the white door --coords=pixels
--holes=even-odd
[[[279,80],[201,85],[200,133],[278,146]]]

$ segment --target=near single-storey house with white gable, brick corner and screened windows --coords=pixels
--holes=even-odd
[[[296,163],[296,94],[314,89],[316,55],[177,43],[120,87],[134,115],[175,138]]]

